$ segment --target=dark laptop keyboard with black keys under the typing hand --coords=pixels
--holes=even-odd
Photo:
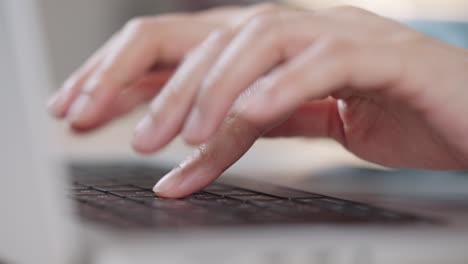
[[[167,170],[111,164],[75,164],[70,169],[73,184],[69,195],[81,218],[118,228],[428,222],[316,193],[280,197],[216,182],[183,199],[164,199],[156,197],[152,187]]]

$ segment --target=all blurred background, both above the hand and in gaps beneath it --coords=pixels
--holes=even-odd
[[[219,5],[245,5],[259,1],[222,0],[41,0],[47,33],[48,52],[54,87],[93,53],[103,42],[132,17],[172,11],[189,11]],[[468,19],[466,0],[283,0],[284,4],[316,9],[336,5],[360,6],[381,15],[403,21],[464,21]],[[175,165],[190,152],[176,140],[161,153],[139,157],[129,141],[134,125],[144,113],[135,111],[120,122],[87,136],[68,133],[59,125],[60,140],[66,155],[75,159],[137,159]],[[285,159],[284,157],[288,157]],[[325,139],[260,140],[230,171],[234,174],[255,173],[278,182],[301,182],[317,171],[359,166],[378,168],[359,160],[336,143]]]

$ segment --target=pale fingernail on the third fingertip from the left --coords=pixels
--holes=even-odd
[[[135,128],[133,147],[141,152],[150,152],[156,136],[156,124],[153,118],[146,116]]]

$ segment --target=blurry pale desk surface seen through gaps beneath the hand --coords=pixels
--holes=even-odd
[[[65,155],[71,159],[85,161],[130,159],[175,166],[191,153],[190,147],[178,138],[159,153],[150,156],[135,154],[129,143],[133,128],[142,114],[144,111],[138,110],[89,135],[73,135],[61,124],[60,142]],[[262,139],[229,172],[247,176],[252,174],[256,178],[265,177],[287,183],[310,176],[311,172],[317,170],[344,165],[373,166],[354,157],[330,140]]]

